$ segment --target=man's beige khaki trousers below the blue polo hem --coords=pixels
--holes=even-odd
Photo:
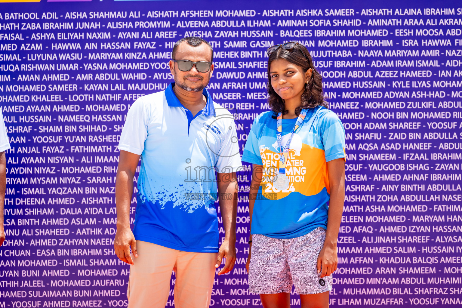
[[[209,307],[217,253],[191,253],[143,241],[136,241],[136,247],[138,258],[133,257],[128,279],[128,308],[164,308],[171,284],[175,284],[176,308]]]

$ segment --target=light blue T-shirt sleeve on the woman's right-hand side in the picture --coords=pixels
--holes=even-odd
[[[318,125],[326,162],[345,158],[345,129],[339,117],[328,111],[319,119]]]

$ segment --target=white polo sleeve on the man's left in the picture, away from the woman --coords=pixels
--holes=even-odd
[[[147,138],[148,114],[144,101],[139,98],[130,107],[122,128],[119,150],[141,155]]]

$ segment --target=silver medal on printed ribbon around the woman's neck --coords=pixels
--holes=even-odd
[[[303,109],[298,115],[297,121],[295,122],[295,126],[292,129],[292,132],[289,135],[289,139],[287,140],[286,146],[283,148],[281,145],[282,142],[282,112],[278,113],[277,117],[277,126],[276,126],[276,139],[278,140],[279,145],[279,169],[278,174],[276,176],[276,180],[273,182],[273,187],[278,190],[287,190],[289,188],[289,177],[286,175],[286,163],[287,163],[287,156],[289,153],[290,142],[292,140],[292,136],[294,133],[297,132],[298,128],[303,125],[303,120],[305,119],[306,113],[308,109]]]

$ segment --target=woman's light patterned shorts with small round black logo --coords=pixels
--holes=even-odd
[[[249,264],[249,291],[275,294],[292,291],[317,294],[332,290],[332,275],[320,278],[316,262],[326,230],[321,227],[291,239],[255,234]]]

